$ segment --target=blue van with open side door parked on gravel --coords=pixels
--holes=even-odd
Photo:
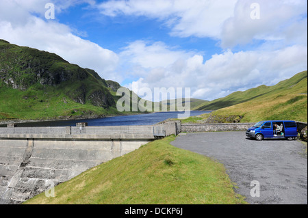
[[[279,126],[279,128],[277,128]],[[255,126],[248,128],[246,136],[261,141],[265,138],[288,140],[296,139],[297,126],[293,120],[266,120],[260,121]]]

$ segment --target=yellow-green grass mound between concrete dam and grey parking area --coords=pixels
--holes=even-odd
[[[25,204],[246,204],[221,163],[153,141],[37,195]]]

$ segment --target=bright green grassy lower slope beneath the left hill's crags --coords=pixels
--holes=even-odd
[[[42,90],[30,87],[22,91],[0,85],[0,120],[40,120],[116,112],[113,108],[107,110],[90,103],[76,103],[57,87],[45,86]]]

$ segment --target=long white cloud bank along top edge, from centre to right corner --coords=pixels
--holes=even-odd
[[[260,19],[251,18],[253,3],[260,6]],[[307,41],[306,0],[111,0],[98,8],[106,16],[157,18],[171,36],[214,38],[224,48],[254,39]]]

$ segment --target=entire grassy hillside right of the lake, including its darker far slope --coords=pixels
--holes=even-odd
[[[261,85],[244,92],[234,92],[197,109],[216,110],[211,116],[217,118],[240,115],[240,122],[275,119],[307,122],[307,71],[277,85]],[[198,119],[198,122],[205,122],[207,118]]]

